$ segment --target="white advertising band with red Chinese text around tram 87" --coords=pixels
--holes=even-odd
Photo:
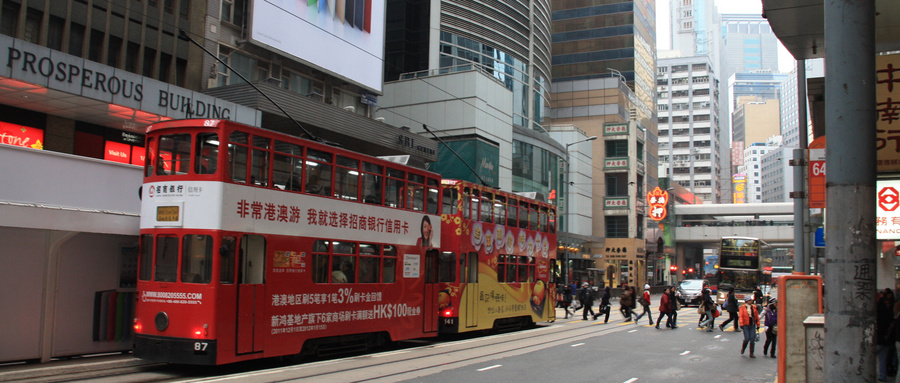
[[[423,235],[430,235],[431,246],[441,246],[440,225],[430,224],[439,217],[414,211],[202,181],[149,183],[142,198],[141,228],[228,230],[398,245],[416,245]],[[430,233],[423,229],[426,225]]]

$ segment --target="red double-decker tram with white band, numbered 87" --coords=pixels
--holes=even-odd
[[[439,175],[225,120],[152,125],[146,148],[136,357],[437,335]]]

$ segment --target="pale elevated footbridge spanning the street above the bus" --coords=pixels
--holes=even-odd
[[[722,237],[743,236],[793,247],[793,202],[677,205],[673,210],[679,244],[718,243]]]

